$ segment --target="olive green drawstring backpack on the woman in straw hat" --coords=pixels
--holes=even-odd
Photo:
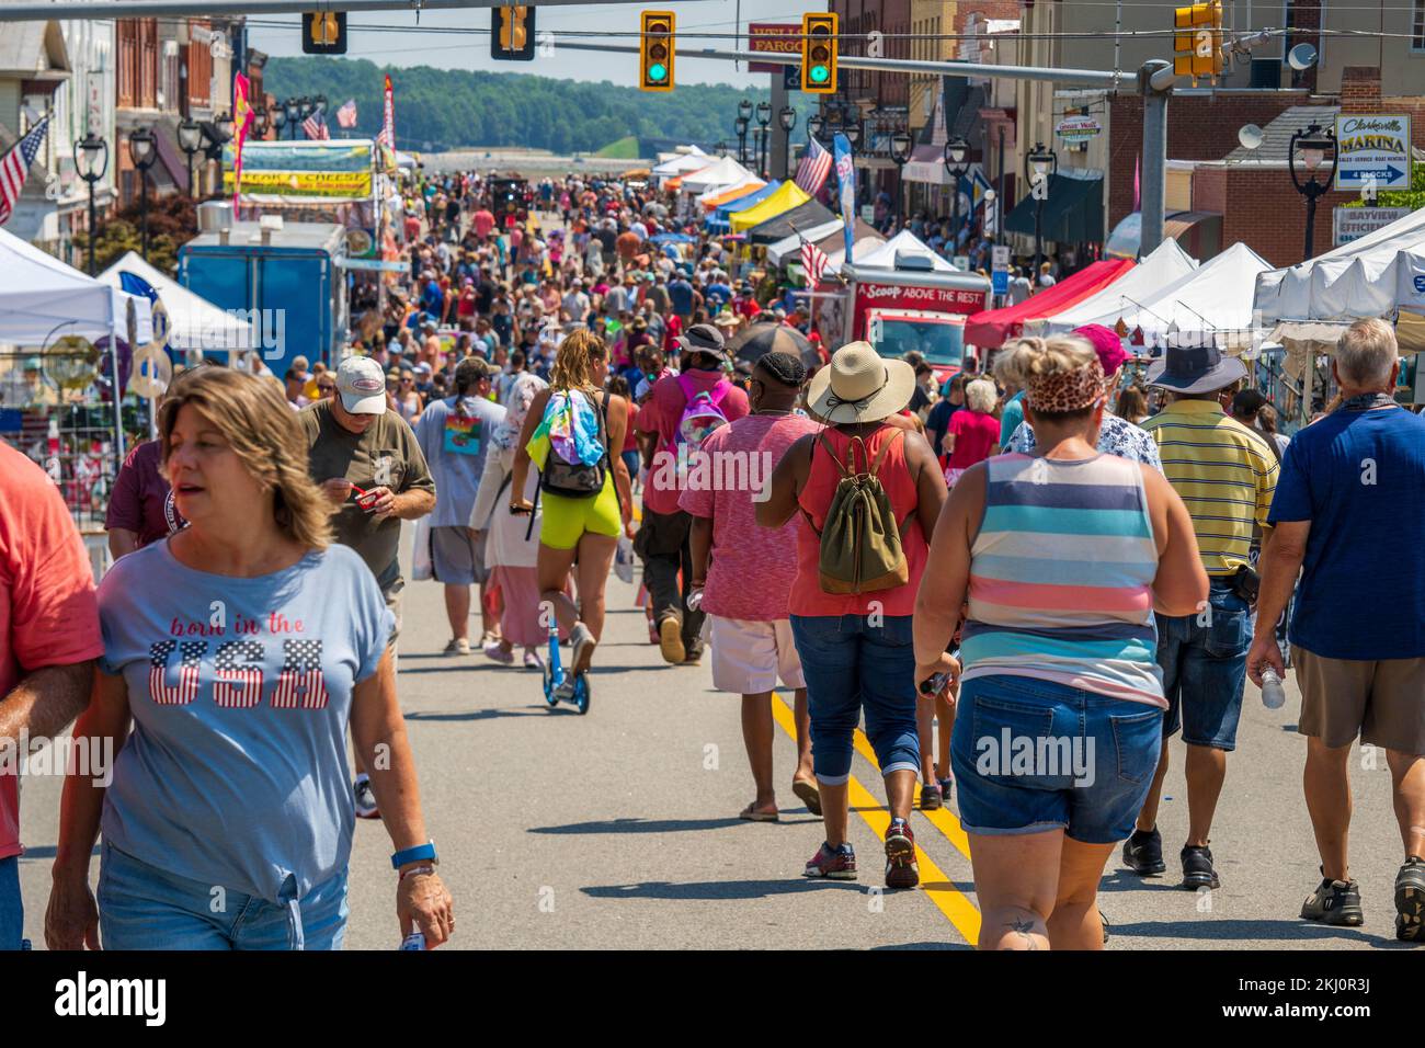
[[[817,443],[819,443],[831,455],[831,461],[836,463],[836,471],[841,473],[821,530],[817,529],[811,515],[805,509],[802,510],[807,523],[811,525],[821,542],[821,556],[817,566],[824,593],[872,593],[903,586],[911,577],[905,550],[901,548],[901,528],[895,522],[895,509],[892,509],[891,499],[878,476],[886,452],[902,435],[903,431],[898,429],[889,441],[881,445],[874,462],[869,461],[871,455],[865,441],[852,436],[851,443],[846,445],[845,465],[836,458],[836,452],[826,442],[825,435],[817,435],[812,456],[815,456]],[[861,458],[869,463],[869,471],[865,473],[856,472],[855,448],[858,443],[861,445]]]

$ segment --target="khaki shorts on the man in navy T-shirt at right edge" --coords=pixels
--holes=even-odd
[[[1362,743],[1425,754],[1425,659],[1327,659],[1291,646],[1301,689],[1297,731],[1331,749]]]

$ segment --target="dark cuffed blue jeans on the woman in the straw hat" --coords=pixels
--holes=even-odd
[[[791,620],[807,679],[817,779],[828,786],[851,779],[852,737],[862,709],[881,774],[918,771],[911,616],[888,616],[881,626],[866,625],[864,615],[794,615]]]

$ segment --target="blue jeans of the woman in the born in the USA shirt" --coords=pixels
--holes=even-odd
[[[98,891],[105,950],[341,950],[346,871],[299,903],[268,903],[150,865],[104,843]]]

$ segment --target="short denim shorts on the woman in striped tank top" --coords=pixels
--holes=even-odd
[[[1156,706],[1036,677],[965,680],[950,736],[960,823],[1116,844],[1133,831],[1161,746]]]

